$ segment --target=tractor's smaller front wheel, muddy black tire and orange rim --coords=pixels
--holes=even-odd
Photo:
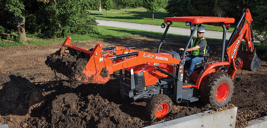
[[[167,95],[158,94],[148,100],[145,112],[151,120],[164,118],[171,112],[172,101]]]

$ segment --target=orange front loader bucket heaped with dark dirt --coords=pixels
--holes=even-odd
[[[113,70],[112,62],[101,56],[102,45],[98,43],[90,51],[71,45],[71,38],[68,38],[60,50],[47,56],[45,64],[73,82],[106,83]]]

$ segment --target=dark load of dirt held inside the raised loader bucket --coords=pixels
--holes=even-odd
[[[52,70],[67,76],[72,81],[78,78],[81,78],[83,81],[85,79],[83,70],[89,59],[90,56],[88,54],[83,54],[79,50],[62,47],[61,50],[47,56],[45,64],[51,67]],[[72,84],[71,87],[75,88],[78,85]]]

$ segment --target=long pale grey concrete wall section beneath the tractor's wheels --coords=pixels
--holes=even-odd
[[[209,111],[198,113],[144,128],[234,128],[237,107],[210,114]],[[265,127],[266,128],[266,127]]]

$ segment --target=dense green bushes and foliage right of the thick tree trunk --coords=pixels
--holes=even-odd
[[[38,38],[98,33],[96,20],[86,12],[90,5],[91,1],[82,0],[57,1],[57,4],[53,1],[31,2],[27,8],[26,31]]]

